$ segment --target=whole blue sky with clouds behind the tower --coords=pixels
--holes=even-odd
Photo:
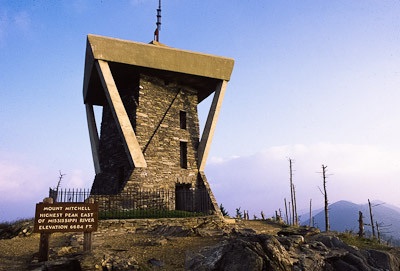
[[[86,35],[153,38],[156,0],[0,0],[0,221],[94,176],[82,83]],[[380,199],[400,206],[399,1],[163,1],[160,41],[232,57],[206,166],[218,202],[259,214]],[[204,125],[210,99],[199,106]]]

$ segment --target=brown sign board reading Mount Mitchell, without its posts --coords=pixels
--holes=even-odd
[[[97,230],[99,204],[95,203],[38,203],[33,231],[92,232]]]

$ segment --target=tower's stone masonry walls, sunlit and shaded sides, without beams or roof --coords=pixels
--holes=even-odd
[[[198,171],[197,91],[129,69],[126,72],[126,67],[110,67],[147,168],[129,164],[111,108],[106,104],[99,146],[101,173],[96,175],[92,191],[104,195],[139,189],[174,191],[177,185],[183,185],[184,189],[207,189],[214,210],[218,210],[204,174]],[[181,111],[186,112],[186,129],[180,125]],[[181,167],[181,142],[187,144],[186,168]],[[199,209],[202,198],[195,193],[192,200]],[[169,204],[174,205],[174,201]]]

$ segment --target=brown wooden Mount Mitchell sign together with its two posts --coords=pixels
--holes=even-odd
[[[45,198],[36,204],[33,231],[40,233],[39,262],[49,258],[49,240],[54,232],[83,232],[84,251],[92,249],[92,232],[97,230],[99,205],[89,198],[85,203],[53,203]]]

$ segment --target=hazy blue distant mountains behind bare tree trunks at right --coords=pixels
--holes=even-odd
[[[378,222],[383,239],[387,240],[393,237],[393,244],[400,244],[400,208],[384,203],[382,201],[373,201],[372,214],[374,224]],[[351,230],[358,232],[358,217],[359,211],[363,213],[364,224],[370,224],[370,215],[368,203],[355,204],[350,201],[341,200],[329,205],[329,222],[330,228],[334,231]],[[325,230],[325,214],[324,210],[319,209],[312,214],[315,221],[315,226],[321,230]],[[302,215],[301,224],[309,225],[309,213]],[[367,234],[371,233],[371,227],[365,225],[364,231]]]

